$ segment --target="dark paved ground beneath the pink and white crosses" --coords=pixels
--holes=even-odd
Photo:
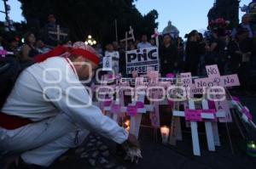
[[[241,97],[241,102],[246,103],[254,114],[254,121],[256,116],[256,98],[253,97]],[[159,140],[154,139],[153,130],[150,128],[141,128],[140,143],[142,146],[143,160],[139,164],[131,164],[129,162],[123,161],[123,156],[116,153],[116,146],[108,140],[102,139],[102,145],[108,145],[109,155],[105,156],[101,161],[96,159],[96,166],[91,166],[90,157],[86,156],[86,146],[88,143],[84,143],[82,146],[84,149],[76,149],[77,154],[69,153],[69,157],[62,161],[57,161],[52,169],[69,169],[69,168],[131,168],[131,169],[186,169],[186,168],[196,168],[196,169],[255,169],[256,158],[252,158],[246,155],[246,141],[241,138],[240,133],[236,125],[233,123],[229,125],[231,131],[231,138],[234,147],[234,154],[231,153],[230,144],[227,138],[227,132],[224,125],[219,126],[221,146],[217,148],[216,152],[209,152],[207,150],[207,140],[206,136],[203,134],[203,127],[200,127],[202,134],[200,135],[201,143],[201,157],[194,156],[192,154],[191,146],[191,134],[189,129],[184,129],[183,131],[183,141],[178,142],[177,146],[163,145]],[[99,146],[96,146],[99,147]],[[83,151],[82,151],[83,150]],[[95,150],[95,149],[94,149]],[[81,152],[82,151],[82,152]],[[73,155],[71,155],[73,154]],[[83,158],[81,158],[81,155]],[[104,156],[104,155],[103,155]],[[98,158],[102,158],[99,156]],[[93,162],[93,161],[92,161]],[[105,162],[105,163],[104,163]],[[113,166],[113,167],[112,167]]]

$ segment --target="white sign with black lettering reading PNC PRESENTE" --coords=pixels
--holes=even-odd
[[[147,68],[153,67],[160,70],[159,53],[157,47],[143,48],[126,52],[126,73],[132,75],[137,71],[139,75],[147,74]]]

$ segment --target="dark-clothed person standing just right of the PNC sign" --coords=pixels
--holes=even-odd
[[[160,47],[160,73],[166,76],[177,68],[177,48],[172,44],[171,35],[164,35],[164,43]]]

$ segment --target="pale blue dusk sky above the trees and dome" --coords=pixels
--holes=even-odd
[[[252,0],[241,0],[240,6],[250,2]],[[9,0],[8,3],[11,6],[11,20],[24,20],[20,2]],[[212,8],[212,4],[213,0],[138,0],[136,3],[142,14],[147,14],[154,8],[158,11],[159,31],[163,31],[168,20],[172,20],[172,24],[177,26],[182,37],[191,30],[203,31],[207,28],[207,13]],[[0,1],[0,10],[3,10],[3,1]],[[0,20],[5,20],[2,13]]]

